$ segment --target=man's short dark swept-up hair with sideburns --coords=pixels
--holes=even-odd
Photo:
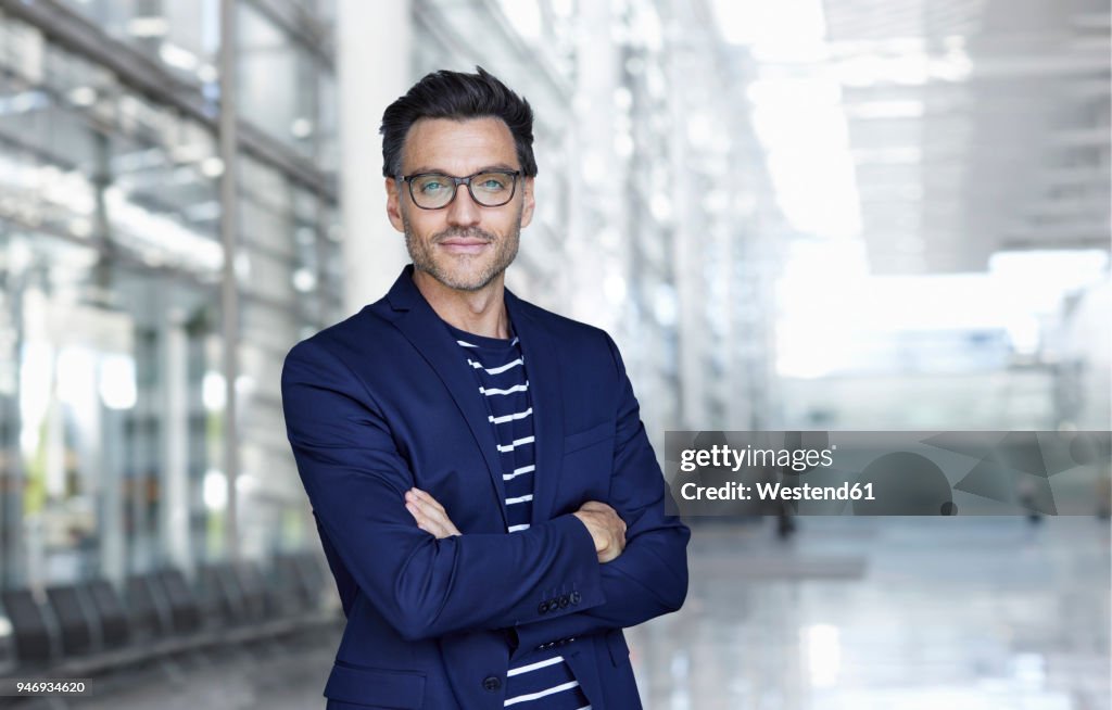
[[[396,178],[401,172],[401,148],[409,128],[420,119],[444,118],[463,121],[498,118],[509,128],[517,146],[517,160],[527,177],[537,174],[533,158],[533,109],[529,102],[506,84],[476,67],[478,73],[440,70],[409,88],[404,97],[386,107],[383,113],[383,174]]]

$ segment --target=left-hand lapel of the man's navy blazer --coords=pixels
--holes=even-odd
[[[503,528],[508,524],[506,516],[506,486],[502,479],[497,442],[494,429],[487,420],[487,410],[478,396],[475,376],[467,370],[467,360],[451,333],[444,327],[440,317],[428,304],[413,282],[413,267],[406,267],[387,294],[395,311],[404,311],[395,319],[395,326],[420,352],[429,367],[447,388],[459,413],[475,438],[475,444],[483,453],[487,471],[498,494],[498,510],[502,512]],[[524,340],[524,339],[523,339]]]

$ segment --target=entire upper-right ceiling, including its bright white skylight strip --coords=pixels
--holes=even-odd
[[[1106,0],[708,0],[796,236],[877,274],[1109,247]]]

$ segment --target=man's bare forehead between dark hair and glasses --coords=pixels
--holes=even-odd
[[[494,166],[519,167],[514,136],[502,119],[420,119],[406,133],[401,151],[406,174],[443,170],[466,176]]]

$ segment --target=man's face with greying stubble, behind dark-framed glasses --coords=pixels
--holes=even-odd
[[[463,178],[483,170],[519,170],[509,128],[500,119],[421,119],[406,136],[401,173]],[[400,190],[399,190],[400,188]],[[523,227],[533,219],[533,179],[518,177],[514,199],[483,207],[459,186],[445,208],[414,204],[408,183],[386,180],[386,211],[406,236],[414,267],[449,289],[477,291],[500,277],[517,256]]]

